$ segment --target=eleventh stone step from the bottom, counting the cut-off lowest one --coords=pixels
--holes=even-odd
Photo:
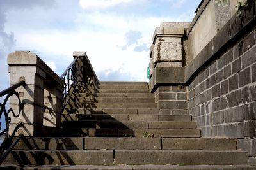
[[[86,93],[149,93],[149,89],[76,89],[76,92]]]

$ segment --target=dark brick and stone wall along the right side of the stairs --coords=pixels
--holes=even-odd
[[[160,113],[192,115],[202,129],[202,136],[237,138],[238,149],[248,150],[250,161],[255,161],[256,4],[247,3],[238,17],[234,1],[221,7],[213,2],[202,1],[189,27],[180,26],[185,30],[181,37],[182,66],[163,66],[161,60],[151,62],[154,64],[150,90],[155,94]],[[221,12],[225,8],[229,14]],[[221,17],[225,19],[220,22]],[[202,26],[207,18],[214,18],[209,21],[215,24],[213,32]],[[170,25],[162,26],[171,29]],[[201,41],[203,37],[205,40]],[[153,41],[152,46],[156,45]],[[150,53],[151,58],[154,55]],[[182,91],[173,92],[178,87],[185,87],[187,99],[182,100],[188,105],[182,105],[183,101],[177,97]]]

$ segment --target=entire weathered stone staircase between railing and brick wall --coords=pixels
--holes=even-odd
[[[159,115],[147,83],[80,85],[63,111],[62,136],[24,138],[0,167],[255,169],[236,139],[200,138],[191,120]]]

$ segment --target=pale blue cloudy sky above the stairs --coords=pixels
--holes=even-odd
[[[148,81],[161,22],[191,22],[201,0],[0,0],[0,91],[8,53],[36,53],[59,76],[85,51],[100,81]],[[3,99],[0,99],[0,103]]]

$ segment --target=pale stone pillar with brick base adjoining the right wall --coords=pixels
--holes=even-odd
[[[182,67],[182,41],[188,26],[189,23],[165,22],[154,32],[150,48],[150,89],[160,114],[188,114]]]

